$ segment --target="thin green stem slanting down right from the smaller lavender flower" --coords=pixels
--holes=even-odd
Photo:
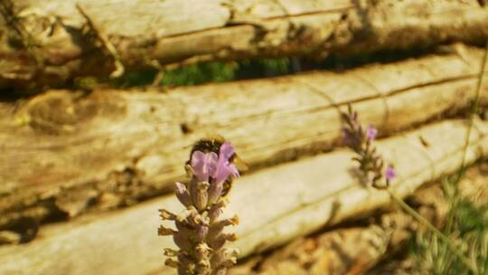
[[[417,213],[417,211],[415,211],[415,209],[411,208],[408,204],[406,204],[396,194],[393,194],[393,192],[391,192],[389,189],[387,189],[387,190],[388,190],[389,195],[391,196],[391,198],[397,204],[399,204],[412,217],[414,217],[416,220],[418,220],[419,223],[423,223],[427,227],[428,230],[430,230],[431,232],[434,232],[437,235],[438,238],[440,238],[441,240],[443,240],[444,242],[446,242],[446,245],[449,247],[449,249],[451,251],[453,251],[455,253],[455,255],[457,256],[457,258],[459,258],[459,260],[463,261],[463,263],[470,270],[472,270],[474,274],[479,274],[478,269],[476,268],[476,266],[474,266],[474,264],[465,257],[465,255],[463,254],[463,252],[461,252],[457,247],[455,247],[455,245],[453,244],[453,242],[451,242],[451,240],[449,240],[449,238],[443,232],[440,232],[436,228],[436,226],[432,225],[432,223],[429,223],[426,220],[426,218],[424,218],[419,213]]]

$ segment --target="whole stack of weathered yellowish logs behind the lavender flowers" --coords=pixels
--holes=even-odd
[[[42,90],[0,102],[2,274],[174,272],[163,266],[172,241],[156,235],[157,209],[180,211],[169,192],[192,143],[211,133],[250,168],[227,209],[241,221],[239,257],[250,257],[235,274],[359,274],[407,238],[398,235],[411,223],[385,222],[395,213],[324,233],[390,205],[388,192],[361,185],[341,147],[348,105],[379,129],[400,197],[488,154],[488,122],[474,119],[468,132],[459,119],[480,74],[476,45],[488,39],[483,1],[21,0],[0,12],[0,88]],[[54,89],[193,62],[427,48],[398,62],[164,93]],[[357,243],[370,247],[348,248]]]

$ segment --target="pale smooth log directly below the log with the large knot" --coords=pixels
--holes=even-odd
[[[441,175],[452,174],[463,159],[467,126],[447,120],[377,142],[399,178],[391,190],[400,197]],[[488,123],[476,120],[466,148],[466,163],[488,152]],[[233,246],[240,257],[266,251],[297,237],[390,203],[389,194],[361,185],[352,152],[339,150],[245,175],[230,194],[225,215],[241,223]],[[119,213],[85,216],[41,229],[40,238],[0,248],[2,274],[173,274],[162,268],[163,247],[171,238],[156,236],[157,209],[179,212],[173,196]]]

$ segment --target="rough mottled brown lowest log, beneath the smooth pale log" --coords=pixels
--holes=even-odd
[[[442,180],[441,180],[442,181]],[[411,196],[411,202],[430,223],[441,228],[446,224],[449,199],[441,181],[422,187]],[[457,185],[466,199],[474,204],[488,203],[486,162],[469,168]],[[230,275],[334,275],[389,274],[376,266],[398,251],[405,251],[414,232],[425,230],[397,204],[391,210],[362,223],[300,238],[269,255],[256,255],[230,270]],[[375,267],[376,266],[376,267]],[[379,270],[385,269],[381,272]],[[408,272],[406,272],[407,274]]]

